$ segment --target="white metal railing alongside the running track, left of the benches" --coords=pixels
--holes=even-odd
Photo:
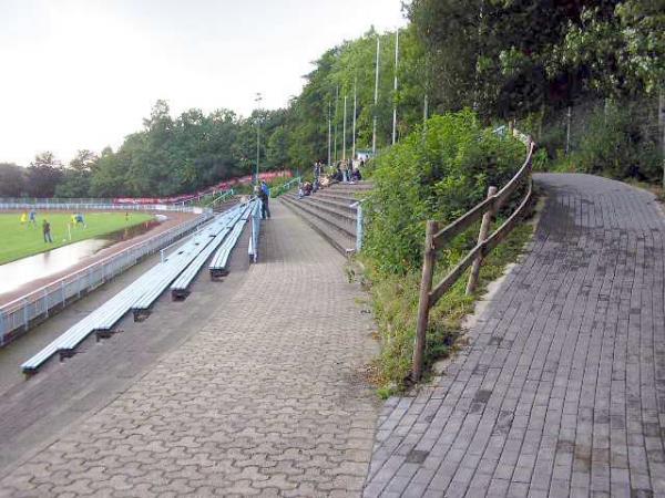
[[[203,212],[177,227],[136,242],[115,255],[3,304],[0,307],[0,346],[30,329],[40,319],[48,318],[53,310],[64,308],[71,301],[122,273],[146,256],[173,243],[211,218],[209,212]]]

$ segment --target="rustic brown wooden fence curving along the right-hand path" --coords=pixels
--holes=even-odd
[[[515,227],[519,218],[524,214],[532,196],[531,160],[534,144],[531,139],[526,142],[528,153],[524,164],[505,186],[497,191],[497,187],[490,187],[488,197],[475,205],[464,215],[452,221],[447,227],[439,229],[439,224],[428,220],[424,235],[424,258],[422,262],[422,280],[420,282],[420,301],[418,303],[418,325],[416,328],[416,343],[413,346],[413,365],[411,377],[419,381],[422,375],[422,362],[427,346],[427,329],[429,325],[429,311],[437,304],[439,299],[464,273],[467,268],[473,264],[467,294],[473,293],[478,282],[478,274],[482,260],[494,249]],[[501,206],[510,198],[515,189],[523,183],[528,183],[528,191],[520,206],[492,235],[488,237],[492,216],[499,211]],[[472,226],[482,218],[478,243],[467,256],[432,289],[432,278],[437,252],[449,243],[456,236]]]

